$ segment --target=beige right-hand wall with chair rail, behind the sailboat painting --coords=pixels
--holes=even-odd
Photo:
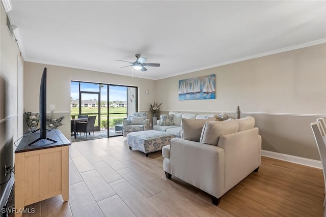
[[[253,115],[262,148],[319,160],[310,122],[325,116],[326,44],[158,80],[162,110]],[[178,100],[178,81],[216,75],[215,100]],[[235,114],[233,115],[235,117]],[[277,120],[277,121],[275,121]]]

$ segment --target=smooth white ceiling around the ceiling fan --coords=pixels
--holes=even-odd
[[[326,42],[325,1],[11,1],[25,61],[160,79]],[[142,77],[141,71],[133,72]]]

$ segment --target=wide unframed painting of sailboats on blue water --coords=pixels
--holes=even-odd
[[[179,100],[215,99],[215,75],[179,81]]]

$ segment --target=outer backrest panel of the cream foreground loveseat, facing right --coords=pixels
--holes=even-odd
[[[228,191],[261,163],[258,128],[220,136],[218,146],[225,152],[225,187]]]

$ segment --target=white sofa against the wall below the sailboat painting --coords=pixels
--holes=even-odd
[[[181,137],[182,132],[182,118],[187,119],[208,119],[208,118],[217,118],[217,114],[193,114],[186,112],[174,112],[170,111],[169,115],[173,114],[173,126],[161,126],[160,120],[156,121],[156,125],[153,126],[153,130],[163,131],[167,133],[171,133],[177,137]]]

